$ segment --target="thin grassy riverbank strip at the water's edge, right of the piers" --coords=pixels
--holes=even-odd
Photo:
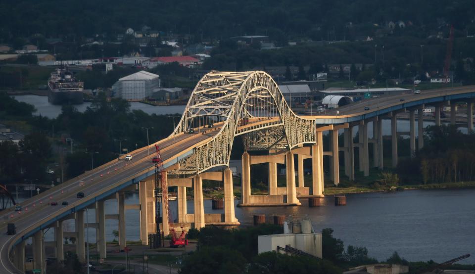
[[[401,185],[404,190],[416,190],[416,189],[463,189],[463,188],[475,188],[475,182],[457,182],[457,183],[427,183],[418,185]],[[337,187],[326,186],[323,191],[324,195],[334,194],[350,194],[350,193],[370,193],[370,192],[385,192],[388,188],[372,188],[367,185],[361,186],[349,186],[349,187]]]

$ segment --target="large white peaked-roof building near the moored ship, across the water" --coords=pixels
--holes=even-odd
[[[112,86],[113,96],[126,100],[142,100],[152,94],[153,90],[160,87],[158,75],[146,71],[139,71],[122,77]]]

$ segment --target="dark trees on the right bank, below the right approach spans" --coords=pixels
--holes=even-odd
[[[397,173],[404,183],[451,183],[475,180],[475,134],[456,126],[425,129],[424,148],[402,160]]]

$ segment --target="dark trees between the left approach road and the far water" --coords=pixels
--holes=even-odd
[[[148,132],[150,143],[173,131],[173,118],[149,115],[142,110],[131,111],[126,100],[108,100],[103,93],[99,93],[83,113],[71,105],[63,106],[55,119],[33,116],[34,111],[32,105],[0,92],[0,121],[25,123],[31,131],[19,146],[12,142],[0,143],[0,155],[8,155],[0,159],[2,183],[24,179],[50,183],[54,178],[47,174],[47,166],[53,162],[53,152],[59,156],[58,165],[64,167],[66,181],[90,170],[92,158],[97,167],[117,158],[121,147],[132,151],[146,146],[147,133],[142,128],[153,127]],[[175,120],[178,123],[178,119]],[[69,150],[71,143],[67,142],[69,137],[73,140],[72,151]],[[60,155],[64,155],[63,159]],[[59,176],[59,168],[56,176]]]

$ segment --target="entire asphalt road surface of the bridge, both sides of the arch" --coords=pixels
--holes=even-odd
[[[408,93],[403,95],[385,96],[380,98],[363,100],[361,102],[353,103],[347,106],[338,108],[338,114],[336,110],[321,114],[319,116],[303,116],[306,119],[309,118],[339,118],[339,117],[351,117],[365,113],[370,113],[377,109],[387,108],[390,106],[404,104],[410,101],[416,101],[420,99],[427,99],[431,97],[437,97],[442,95],[458,94],[474,92],[474,86],[458,87],[450,89],[439,89],[432,91],[422,91],[421,94]],[[404,101],[400,99],[404,98]],[[368,106],[370,110],[365,111],[365,106]],[[266,119],[261,119],[260,121]],[[248,127],[252,127],[254,121],[250,121]],[[221,124],[221,123],[220,123]],[[219,126],[219,124],[217,124]],[[218,132],[219,128],[208,130],[210,133],[202,134],[179,134],[175,138],[166,138],[157,142],[161,149],[161,157],[163,162],[173,161],[177,156],[183,152],[191,150],[197,146],[198,143],[204,140],[211,139]],[[148,152],[147,152],[148,150]],[[55,216],[61,213],[70,211],[71,208],[84,203],[86,200],[94,198],[121,183],[127,182],[131,178],[134,178],[143,172],[153,168],[154,163],[151,159],[155,155],[155,147],[150,145],[147,148],[141,148],[135,150],[130,155],[133,156],[132,160],[114,160],[94,170],[87,172],[77,178],[71,179],[61,185],[55,186],[40,195],[34,196],[23,203],[23,211],[21,213],[14,212],[13,209],[4,210],[0,213],[0,274],[17,274],[21,273],[16,270],[13,264],[10,262],[9,251],[13,243],[21,238],[34,228],[38,228],[40,225],[45,224],[48,220],[51,220]],[[124,155],[125,156],[125,155]],[[80,185],[80,182],[84,182],[84,186]],[[84,192],[85,198],[77,198],[77,192]],[[50,201],[56,201],[58,205],[48,205]],[[62,206],[61,203],[67,201],[69,205]],[[7,223],[14,223],[17,227],[16,235],[6,235]]]

